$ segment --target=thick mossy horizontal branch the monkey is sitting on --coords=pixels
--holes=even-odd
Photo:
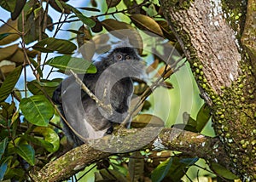
[[[112,153],[104,152],[108,150],[109,146],[116,146],[120,148],[121,151],[131,151],[132,147],[139,145],[142,141],[150,139],[152,134],[155,133],[155,129],[159,128],[148,127],[145,128],[143,132],[138,128],[122,128],[117,136],[114,134],[108,135],[93,142],[95,145],[101,146],[101,151],[96,150],[93,146],[88,144],[81,145],[74,148],[72,151],[68,151],[55,161],[49,162],[41,170],[34,171],[32,173],[32,179],[40,182],[67,179],[86,166],[89,166],[91,163],[113,155]],[[140,134],[138,135],[138,133]],[[137,137],[136,140],[134,140],[134,136]],[[120,143],[119,139],[123,137],[125,137],[125,140]],[[198,156],[213,162],[218,161],[223,165],[230,163],[229,159],[224,156],[224,147],[218,139],[178,128],[162,129],[160,134],[148,145],[145,145],[143,149],[151,149],[154,151],[182,151],[183,154],[187,156]]]

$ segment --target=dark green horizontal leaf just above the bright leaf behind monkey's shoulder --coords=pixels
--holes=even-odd
[[[56,51],[61,54],[72,54],[77,46],[67,40],[49,37],[36,43],[32,48],[44,53],[53,53]]]

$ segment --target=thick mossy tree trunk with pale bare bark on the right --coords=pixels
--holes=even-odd
[[[213,127],[232,161],[225,167],[243,179],[256,179],[256,81],[238,39],[242,23],[237,19],[242,19],[242,14],[234,15],[237,24],[232,26],[222,7],[226,2],[160,2],[201,94],[212,106]],[[231,3],[236,6],[236,1]],[[246,6],[239,4],[241,10]]]

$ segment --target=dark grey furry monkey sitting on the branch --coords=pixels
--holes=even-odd
[[[111,106],[112,113],[96,105],[73,75],[61,82],[52,97],[68,122],[62,121],[63,132],[74,147],[84,144],[86,139],[98,139],[113,133],[113,125],[123,122],[128,115],[133,94],[132,78],[145,75],[137,48],[131,47],[127,41],[119,43],[93,64],[96,73],[79,74],[79,78],[104,105]],[[131,118],[127,127],[130,122]]]

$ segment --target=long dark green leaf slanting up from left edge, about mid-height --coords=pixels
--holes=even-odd
[[[15,88],[16,82],[18,82],[20,78],[20,73],[22,71],[22,66],[18,66],[12,71],[4,80],[1,88],[0,88],[0,102],[6,100],[9,94]]]

